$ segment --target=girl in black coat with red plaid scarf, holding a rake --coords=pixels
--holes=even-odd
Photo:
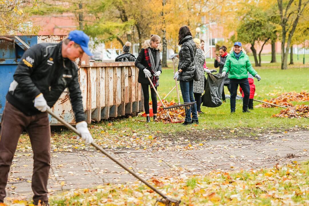
[[[162,73],[162,66],[160,61],[160,40],[158,35],[151,35],[150,40],[146,40],[142,46],[141,51],[135,61],[135,66],[138,71],[138,82],[142,85],[144,94],[144,109],[146,113],[146,122],[150,122],[149,117],[149,86],[150,80],[155,86],[155,89],[159,86],[159,76]],[[154,114],[154,120],[157,118],[157,95],[155,90],[150,85],[152,111]]]

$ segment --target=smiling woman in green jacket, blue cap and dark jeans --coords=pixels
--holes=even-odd
[[[248,103],[250,96],[250,86],[248,82],[248,72],[253,77],[257,78],[257,81],[261,80],[261,77],[253,69],[249,57],[244,53],[240,42],[235,42],[233,52],[226,57],[225,65],[222,70],[222,76],[229,72],[228,78],[230,78],[231,86],[231,113],[235,112],[236,95],[238,85],[243,89],[243,112],[248,111]]]

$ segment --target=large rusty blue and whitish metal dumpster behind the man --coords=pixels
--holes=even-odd
[[[41,42],[59,42],[66,36],[0,37],[0,117],[17,64],[27,48]],[[20,40],[20,41],[19,41]],[[3,55],[2,55],[3,54]],[[90,62],[87,55],[77,61],[83,106],[88,123],[109,117],[137,114],[144,110],[138,68],[134,62]],[[75,124],[74,112],[65,90],[52,108],[66,122]],[[60,123],[50,118],[51,125]]]

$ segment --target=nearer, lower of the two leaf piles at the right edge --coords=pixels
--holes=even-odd
[[[272,117],[282,117],[282,118],[309,118],[309,105],[296,105],[288,107],[285,110],[281,110],[279,114],[275,114]]]

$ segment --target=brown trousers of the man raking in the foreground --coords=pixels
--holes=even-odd
[[[6,196],[6,183],[20,134],[26,130],[33,150],[33,201],[48,202],[47,181],[50,169],[50,126],[46,112],[26,116],[6,102],[0,132],[0,202]]]

